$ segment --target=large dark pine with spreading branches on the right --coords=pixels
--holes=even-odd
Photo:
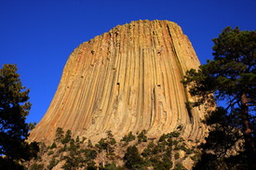
[[[226,107],[211,111],[206,118],[206,123],[213,128],[207,147],[215,152],[209,160],[227,160],[226,150],[232,150],[237,141],[244,139],[245,151],[237,156],[244,160],[243,164],[248,164],[249,169],[256,169],[256,33],[226,27],[213,42],[214,59],[208,59],[197,72],[194,69],[186,72],[182,80],[184,85],[189,85],[190,94],[198,97],[187,106],[190,109],[206,101],[214,105],[215,99],[224,100]],[[229,160],[228,164],[235,167],[239,163],[235,160]]]

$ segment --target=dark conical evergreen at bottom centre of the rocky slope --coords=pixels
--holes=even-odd
[[[125,154],[124,160],[126,160],[126,166],[128,169],[132,169],[135,165],[142,165],[144,164],[143,159],[141,158],[141,155],[135,145],[132,147],[129,146],[128,150]]]

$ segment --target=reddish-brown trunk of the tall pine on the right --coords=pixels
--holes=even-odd
[[[249,106],[247,94],[243,92],[241,98],[241,111],[242,111],[242,121],[243,121],[243,136],[245,137],[245,152],[247,155],[249,170],[256,169],[256,154],[255,146],[251,137],[251,128],[249,126]]]

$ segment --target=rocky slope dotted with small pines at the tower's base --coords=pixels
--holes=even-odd
[[[111,131],[93,145],[89,138],[74,137],[72,132],[61,127],[55,141],[46,146],[40,143],[38,157],[30,163],[30,169],[191,169],[200,159],[199,141],[184,140],[180,137],[182,126],[177,131],[163,134],[160,138],[148,138],[145,130],[129,132],[116,141]]]

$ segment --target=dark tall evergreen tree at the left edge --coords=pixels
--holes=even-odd
[[[0,69],[0,155],[6,155],[10,162],[36,157],[39,147],[36,142],[28,144],[25,139],[33,124],[26,124],[26,116],[31,109],[30,89],[25,90],[17,73],[16,65],[4,64]],[[0,165],[0,168],[5,167]],[[19,166],[19,165],[18,165]]]

